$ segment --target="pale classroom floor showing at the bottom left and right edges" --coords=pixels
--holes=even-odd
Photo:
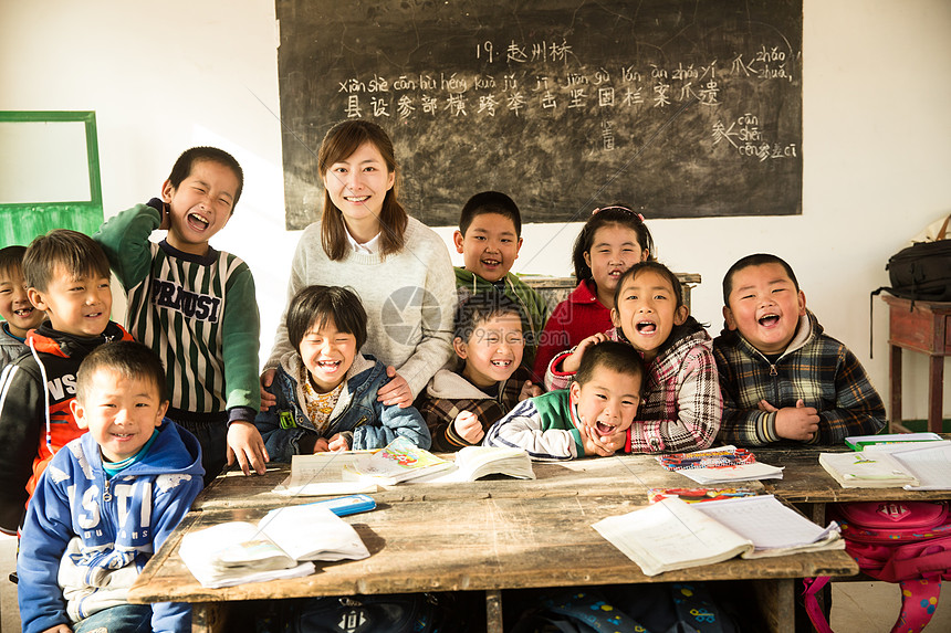
[[[17,585],[7,580],[15,569],[17,539],[0,535],[0,632],[20,631]],[[832,627],[835,633],[887,632],[898,616],[898,585],[887,582],[836,582],[833,584]],[[926,631],[951,631],[951,591]]]

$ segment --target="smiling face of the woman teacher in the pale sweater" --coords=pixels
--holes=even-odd
[[[372,230],[366,240],[376,235],[383,201],[396,180],[396,173],[387,169],[376,146],[369,141],[360,145],[352,155],[331,165],[323,178],[351,234],[360,240]]]

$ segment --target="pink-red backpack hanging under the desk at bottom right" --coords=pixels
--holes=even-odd
[[[892,633],[918,633],[931,620],[941,580],[951,579],[948,502],[869,502],[829,506],[842,526],[846,551],[859,570],[901,588],[901,613]],[[806,611],[819,633],[832,633],[815,594],[828,577],[807,578]]]

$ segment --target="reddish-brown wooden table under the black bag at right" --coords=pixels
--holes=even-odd
[[[941,433],[944,357],[951,356],[951,303],[911,302],[881,295],[888,304],[891,433],[908,432],[901,423],[901,350],[928,355],[928,431]]]

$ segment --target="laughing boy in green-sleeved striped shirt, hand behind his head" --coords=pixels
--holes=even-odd
[[[206,483],[238,461],[269,461],[253,420],[260,408],[260,319],[251,270],[208,241],[224,228],[244,186],[241,166],[213,147],[186,150],[161,198],[104,223],[103,246],[128,299],[126,327],[165,363],[168,418],[201,443]],[[161,242],[149,241],[156,229]]]

